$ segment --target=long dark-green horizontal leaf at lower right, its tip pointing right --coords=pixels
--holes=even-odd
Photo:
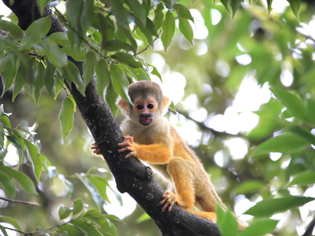
[[[252,216],[271,216],[276,212],[282,212],[289,210],[293,207],[302,206],[315,198],[302,197],[302,196],[290,196],[276,199],[266,199],[257,202],[256,205],[249,208],[243,214]]]

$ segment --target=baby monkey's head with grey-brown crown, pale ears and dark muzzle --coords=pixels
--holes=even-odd
[[[163,96],[161,87],[153,81],[141,80],[129,85],[129,97],[135,106],[117,99],[117,105],[123,113],[143,126],[149,126],[166,114],[169,98]]]

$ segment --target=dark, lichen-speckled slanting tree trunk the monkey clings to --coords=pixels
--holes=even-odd
[[[27,29],[32,19],[37,20],[41,17],[37,6],[32,8],[32,2],[32,0],[15,0],[14,5],[10,6],[9,0],[3,0],[3,3],[18,17],[22,30]],[[49,8],[45,9],[45,15],[50,15],[52,19],[49,34],[65,32],[64,27]],[[83,63],[69,59],[75,63],[82,76]],[[77,91],[73,83],[71,94],[115,177],[117,189],[133,197],[153,219],[164,236],[220,236],[217,224],[194,216],[177,205],[174,205],[171,212],[162,212],[159,202],[164,191],[153,179],[152,170],[134,157],[124,159],[127,151],[117,152],[117,144],[123,142],[123,134],[110,108],[96,93],[95,80],[87,86],[86,97]]]

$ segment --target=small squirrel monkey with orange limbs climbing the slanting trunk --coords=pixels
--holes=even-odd
[[[132,83],[128,93],[135,106],[120,97],[116,103],[126,116],[121,125],[126,142],[118,144],[126,147],[118,152],[130,150],[125,158],[134,155],[145,161],[169,183],[160,202],[162,211],[171,211],[176,203],[196,216],[216,222],[217,202],[223,209],[226,206],[216,193],[199,158],[164,117],[168,111],[169,98],[163,96],[160,86],[152,81]],[[100,155],[97,144],[92,145],[91,149],[95,149],[93,152]],[[193,210],[194,206],[202,211]],[[239,229],[246,226],[238,220]]]

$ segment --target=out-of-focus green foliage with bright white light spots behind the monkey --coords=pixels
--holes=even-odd
[[[161,73],[163,90],[179,112],[178,116],[170,112],[169,119],[202,160],[223,202],[241,215],[255,202],[273,195],[315,197],[313,185],[286,188],[290,177],[303,170],[315,169],[314,146],[291,155],[271,153],[253,159],[248,155],[259,143],[301,122],[280,116],[285,108],[268,89],[270,85],[288,87],[302,99],[315,96],[315,5],[301,3],[302,23],[299,24],[285,0],[273,1],[269,17],[266,1],[258,1],[254,6],[245,1],[233,20],[219,1],[215,6],[212,1],[205,0],[193,4],[191,0],[180,0],[178,3],[190,8],[195,18],[194,46],[180,33],[177,22],[167,54],[157,40],[154,48],[150,47],[148,53],[143,52],[140,57]],[[61,11],[62,5],[61,1],[58,6]],[[149,17],[153,17],[153,11]],[[141,43],[138,41],[139,51],[145,48]],[[152,80],[159,81],[156,76],[152,76]],[[2,90],[3,85],[0,87]],[[70,177],[74,185],[72,198],[67,201],[64,184],[43,173],[38,186],[42,190],[39,197],[21,191],[16,196],[16,199],[39,201],[41,207],[16,207],[16,204],[0,200],[1,215],[14,217],[25,231],[37,225],[43,228],[55,225],[60,205],[71,206],[77,198],[83,199],[87,208],[96,208],[84,185],[71,175],[86,172],[91,167],[108,169],[105,161],[90,153],[93,138],[78,111],[72,131],[63,143],[58,114],[64,97],[61,91],[54,102],[44,89],[39,107],[21,93],[12,103],[12,90],[0,99],[5,112],[13,113],[10,116],[12,126],[20,121],[26,121],[28,126],[34,122],[39,124],[41,153],[59,173]],[[117,122],[122,119],[119,113]],[[311,126],[305,127],[315,134]],[[16,164],[13,153],[4,159],[11,165]],[[32,176],[31,168],[21,168]],[[112,181],[110,184],[114,188],[111,175],[100,171],[103,172],[98,171],[100,175]],[[102,211],[117,215],[126,223],[116,224],[119,235],[161,235],[153,221],[126,196],[128,194],[122,195],[123,206],[110,190],[107,194],[112,205],[104,204]],[[303,234],[314,212],[315,204],[310,202],[272,216],[272,219],[281,220],[275,234]],[[252,221],[249,215],[240,218]]]

